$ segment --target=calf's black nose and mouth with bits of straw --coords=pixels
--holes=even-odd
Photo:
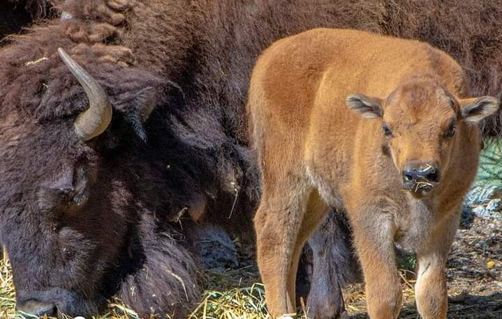
[[[411,161],[404,165],[403,185],[413,192],[427,192],[439,182],[439,169],[436,164]]]

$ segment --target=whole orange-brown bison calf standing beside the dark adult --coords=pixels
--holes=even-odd
[[[396,318],[394,243],[415,251],[418,311],[445,318],[445,263],[478,166],[492,97],[423,42],[314,29],[275,42],[253,70],[248,108],[263,178],[258,265],[274,317],[295,313],[304,242],[346,210],[371,318]]]

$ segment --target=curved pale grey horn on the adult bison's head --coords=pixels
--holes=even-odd
[[[57,49],[57,53],[64,64],[84,88],[87,98],[89,98],[89,109],[83,111],[73,123],[75,133],[82,141],[94,139],[99,134],[105,132],[112,121],[112,104],[101,85],[91,77],[86,70],[71,59],[64,49]]]

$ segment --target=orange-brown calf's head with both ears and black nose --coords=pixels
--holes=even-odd
[[[427,75],[404,81],[385,99],[357,94],[348,96],[347,104],[364,118],[381,121],[378,134],[385,136],[404,189],[417,198],[428,196],[441,184],[452,152],[471,138],[468,125],[499,107],[499,101],[489,96],[452,96]]]

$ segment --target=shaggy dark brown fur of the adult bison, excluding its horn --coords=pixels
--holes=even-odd
[[[193,220],[236,233],[251,225],[260,182],[244,104],[251,68],[274,40],[319,26],[428,40],[464,65],[476,95],[501,91],[498,1],[67,0],[54,8],[64,19],[38,22],[0,49],[0,234],[28,312],[89,316],[119,291],[142,316],[184,316],[198,296]],[[89,100],[59,47],[112,106],[110,125],[93,139],[75,130]],[[324,265],[337,256],[313,247]]]

